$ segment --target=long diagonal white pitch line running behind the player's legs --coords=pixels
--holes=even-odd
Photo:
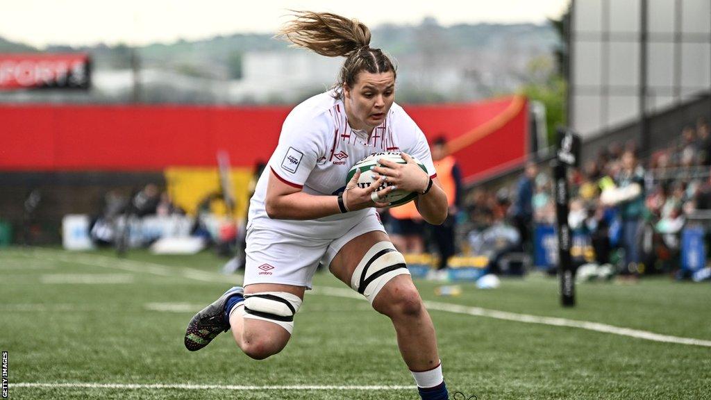
[[[43,251],[43,253],[48,253],[49,251]],[[32,256],[35,256],[36,253],[39,253],[38,251],[31,253]],[[53,253],[58,253],[57,251],[53,251]],[[154,264],[154,263],[147,263],[144,261],[130,261],[130,264],[127,263],[127,260],[115,260],[113,258],[105,257],[105,256],[91,256],[90,258],[87,258],[85,260],[77,261],[75,258],[52,258],[52,257],[47,257],[47,256],[41,256],[41,257],[36,257],[35,258],[41,258],[45,260],[58,260],[58,261],[64,261],[64,262],[73,262],[73,263],[84,263],[87,265],[98,265],[106,268],[119,268],[119,269],[124,269],[124,270],[132,270],[134,272],[149,272],[149,273],[155,273],[156,275],[168,275],[168,276],[175,276],[173,274],[174,270],[173,268],[170,268],[166,265],[160,265],[160,264]],[[101,261],[101,263],[99,262]],[[122,265],[118,265],[117,263],[123,263]],[[143,267],[140,267],[139,265],[144,265]],[[146,265],[149,268],[146,268]],[[191,273],[189,273],[189,272]],[[214,275],[210,273],[205,273],[204,271],[201,270],[194,270],[192,268],[182,268],[182,276],[183,278],[188,278],[188,279],[196,279],[196,280],[202,280],[198,279],[196,275],[202,275],[201,278],[208,278],[208,276],[212,279],[214,279]],[[186,273],[188,272],[188,273]],[[196,273],[197,272],[197,273]],[[195,273],[195,274],[193,274]],[[216,275],[216,274],[215,274]],[[219,275],[218,275],[219,276]],[[232,275],[233,278],[237,278],[235,275]],[[220,280],[215,280],[220,283],[225,283],[225,279],[220,279]],[[355,298],[355,299],[360,299],[360,300],[365,300],[362,296],[358,295],[357,293],[354,293],[353,290],[348,290],[346,288],[329,288],[329,287],[321,287],[321,288],[314,288],[314,290],[311,290],[311,293],[315,295],[327,295],[327,296],[333,296],[333,297],[339,297],[339,298]],[[558,317],[540,317],[538,315],[528,315],[528,314],[518,314],[516,312],[507,312],[507,311],[499,311],[499,310],[488,310],[486,308],[481,308],[481,307],[469,307],[465,305],[456,305],[456,304],[449,304],[449,303],[444,303],[444,302],[432,302],[432,301],[425,301],[424,305],[427,307],[429,310],[439,310],[439,311],[444,311],[444,312],[452,312],[455,314],[464,314],[464,315],[474,315],[476,317],[489,317],[489,318],[494,318],[497,320],[507,320],[507,321],[513,321],[513,322],[524,322],[524,323],[529,323],[529,324],[540,324],[540,325],[550,325],[550,326],[556,326],[556,327],[574,327],[574,328],[579,328],[579,329],[584,329],[584,330],[592,330],[594,332],[602,332],[602,333],[610,333],[613,335],[620,335],[620,336],[627,336],[627,337],[635,337],[637,339],[643,339],[643,340],[651,340],[653,342],[665,342],[665,343],[675,343],[675,344],[688,344],[688,345],[693,345],[693,346],[702,346],[702,347],[711,347],[711,340],[700,340],[700,339],[693,339],[689,337],[677,337],[677,336],[670,336],[670,335],[661,335],[658,333],[654,332],[648,332],[645,330],[634,330],[631,328],[624,328],[624,327],[616,327],[614,325],[607,325],[607,324],[602,324],[599,322],[589,322],[589,321],[579,321],[579,320],[568,320],[567,318],[558,318]]]

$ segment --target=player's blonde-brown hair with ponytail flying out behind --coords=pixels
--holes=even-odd
[[[343,97],[343,85],[355,85],[358,73],[391,72],[395,65],[379,48],[370,48],[370,29],[357,19],[347,19],[332,13],[294,11],[296,19],[286,23],[277,37],[292,42],[292,46],[308,48],[321,56],[346,57],[338,73],[334,97]]]

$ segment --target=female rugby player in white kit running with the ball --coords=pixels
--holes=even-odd
[[[363,23],[301,11],[281,36],[294,46],[345,57],[338,83],[294,107],[250,201],[244,288],[235,287],[188,325],[186,347],[205,347],[232,330],[247,356],[264,359],[286,346],[294,315],[319,263],[392,320],[400,354],[422,399],[447,399],[432,320],[402,254],[390,243],[375,207],[395,189],[415,191],[429,223],[447,218],[422,130],[395,104],[395,66],[371,48]],[[381,160],[380,182],[343,186],[348,170],[376,152],[402,152],[407,164]],[[412,157],[427,168],[423,172]],[[385,189],[378,191],[378,187]]]

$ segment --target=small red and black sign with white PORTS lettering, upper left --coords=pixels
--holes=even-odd
[[[0,90],[88,89],[91,62],[85,53],[0,53]]]

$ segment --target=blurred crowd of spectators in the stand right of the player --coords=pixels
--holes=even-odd
[[[579,252],[579,265],[604,265],[629,280],[679,270],[683,228],[702,224],[697,211],[711,209],[709,124],[699,119],[667,147],[640,155],[634,142],[612,143],[569,175],[568,223],[590,250]],[[497,226],[498,241],[515,245],[508,251],[533,251],[535,226],[556,218],[552,178],[542,169],[531,163],[513,185],[467,194],[465,251],[479,251],[476,238]]]

